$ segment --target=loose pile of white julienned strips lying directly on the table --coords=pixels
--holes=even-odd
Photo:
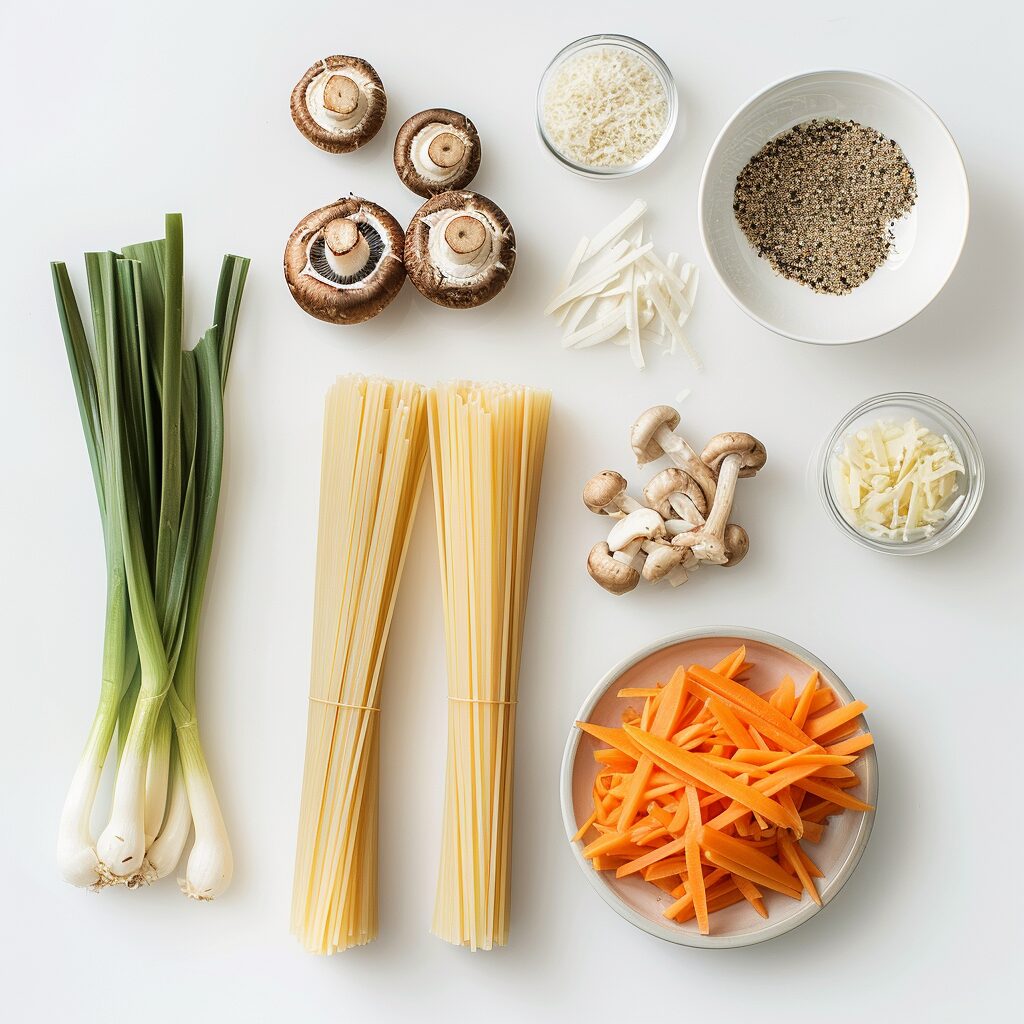
[[[636,200],[592,239],[581,239],[544,311],[561,325],[563,348],[605,341],[628,345],[642,370],[643,345],[649,342],[671,354],[681,348],[700,370],[683,330],[693,309],[697,269],[678,253],[662,260],[653,244],[644,242],[646,211],[647,204]]]

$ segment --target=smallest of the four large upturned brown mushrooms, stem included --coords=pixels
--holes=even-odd
[[[479,167],[480,136],[465,114],[435,106],[398,129],[394,169],[417,196],[465,188]]]

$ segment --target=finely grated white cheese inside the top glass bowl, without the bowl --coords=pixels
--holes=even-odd
[[[544,130],[563,157],[586,167],[627,167],[657,144],[669,98],[638,53],[600,46],[574,53],[551,74]]]

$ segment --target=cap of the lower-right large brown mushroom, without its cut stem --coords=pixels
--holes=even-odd
[[[435,252],[451,222],[470,216],[484,225],[489,239],[488,256],[478,270],[466,264],[458,275],[438,265]],[[484,196],[472,191],[446,191],[428,199],[413,217],[406,232],[406,270],[421,294],[439,306],[469,309],[493,299],[508,284],[515,266],[515,232],[508,217]]]

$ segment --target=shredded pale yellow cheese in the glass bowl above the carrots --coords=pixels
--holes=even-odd
[[[964,501],[955,444],[914,419],[880,420],[847,434],[831,470],[847,521],[883,541],[931,537]]]

